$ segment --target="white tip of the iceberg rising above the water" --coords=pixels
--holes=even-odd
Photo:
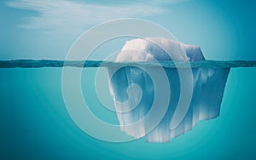
[[[148,37],[127,41],[116,61],[150,61],[154,59],[173,61],[205,60],[199,46],[180,43],[164,37]]]

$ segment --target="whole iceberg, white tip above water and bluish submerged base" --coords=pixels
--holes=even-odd
[[[161,60],[189,63],[205,58],[200,47],[163,37],[127,41],[116,58],[117,62]],[[198,121],[218,117],[229,68],[148,68],[108,68],[110,93],[120,129],[126,134],[135,139],[145,136],[147,142],[166,143],[191,130]],[[189,83],[183,88],[182,79]],[[159,87],[166,82],[167,87]],[[190,98],[183,97],[181,93],[189,89]],[[166,105],[161,103],[165,100]],[[183,103],[186,100],[189,103]],[[149,113],[150,118],[144,118]]]

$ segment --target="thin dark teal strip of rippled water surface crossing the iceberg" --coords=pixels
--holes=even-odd
[[[137,61],[114,62],[103,60],[0,60],[0,68],[41,68],[41,67],[120,67],[120,66],[161,66],[166,68],[236,68],[256,67],[256,60],[201,60],[195,62]]]

